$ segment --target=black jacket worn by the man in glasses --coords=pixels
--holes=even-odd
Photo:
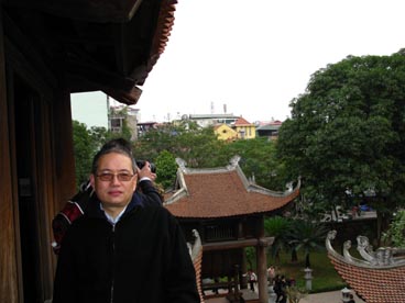
[[[53,303],[200,302],[177,221],[143,200],[135,193],[114,226],[90,201],[63,239]]]

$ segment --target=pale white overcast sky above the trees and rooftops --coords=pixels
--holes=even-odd
[[[310,75],[405,47],[403,0],[178,0],[135,108],[141,121],[227,113],[284,121]]]

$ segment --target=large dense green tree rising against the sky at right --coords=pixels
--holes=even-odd
[[[405,56],[349,56],[311,76],[291,103],[277,153],[302,176],[302,193],[322,209],[366,200],[379,231],[405,201]],[[366,197],[371,192],[371,197]]]

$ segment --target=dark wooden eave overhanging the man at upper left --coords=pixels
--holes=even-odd
[[[3,0],[3,11],[70,92],[134,104],[164,52],[176,0]],[[6,29],[8,32],[8,29]],[[10,34],[11,36],[11,34]]]

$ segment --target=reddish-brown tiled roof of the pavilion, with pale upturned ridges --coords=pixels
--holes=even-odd
[[[178,170],[184,182],[165,206],[177,217],[227,217],[276,211],[299,193],[281,193],[255,186],[247,180],[239,166],[227,169]]]

